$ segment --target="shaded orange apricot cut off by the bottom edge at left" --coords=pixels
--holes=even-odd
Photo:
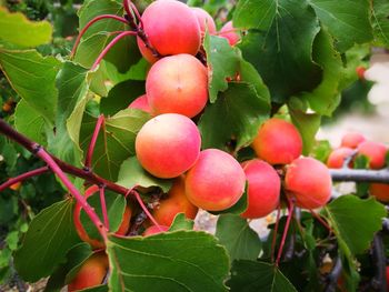
[[[104,253],[92,254],[80,268],[76,278],[68,284],[68,291],[79,291],[82,289],[100,285],[108,272],[108,258]]]

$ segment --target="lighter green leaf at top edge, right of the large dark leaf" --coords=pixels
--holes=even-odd
[[[341,52],[372,39],[367,0],[309,0],[320,22],[337,40]]]

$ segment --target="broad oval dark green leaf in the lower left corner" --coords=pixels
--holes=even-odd
[[[16,269],[26,281],[50,275],[79,242],[72,207],[71,199],[54,203],[31,221],[20,250],[14,253]]]

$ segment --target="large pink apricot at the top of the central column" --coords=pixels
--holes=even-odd
[[[152,2],[142,14],[143,30],[150,44],[161,54],[196,54],[201,44],[200,27],[192,10],[173,0]],[[156,57],[138,37],[140,52],[149,62]]]

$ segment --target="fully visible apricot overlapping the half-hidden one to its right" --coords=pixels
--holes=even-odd
[[[207,149],[187,173],[186,194],[198,208],[221,211],[239,201],[245,183],[245,171],[233,157]]]

